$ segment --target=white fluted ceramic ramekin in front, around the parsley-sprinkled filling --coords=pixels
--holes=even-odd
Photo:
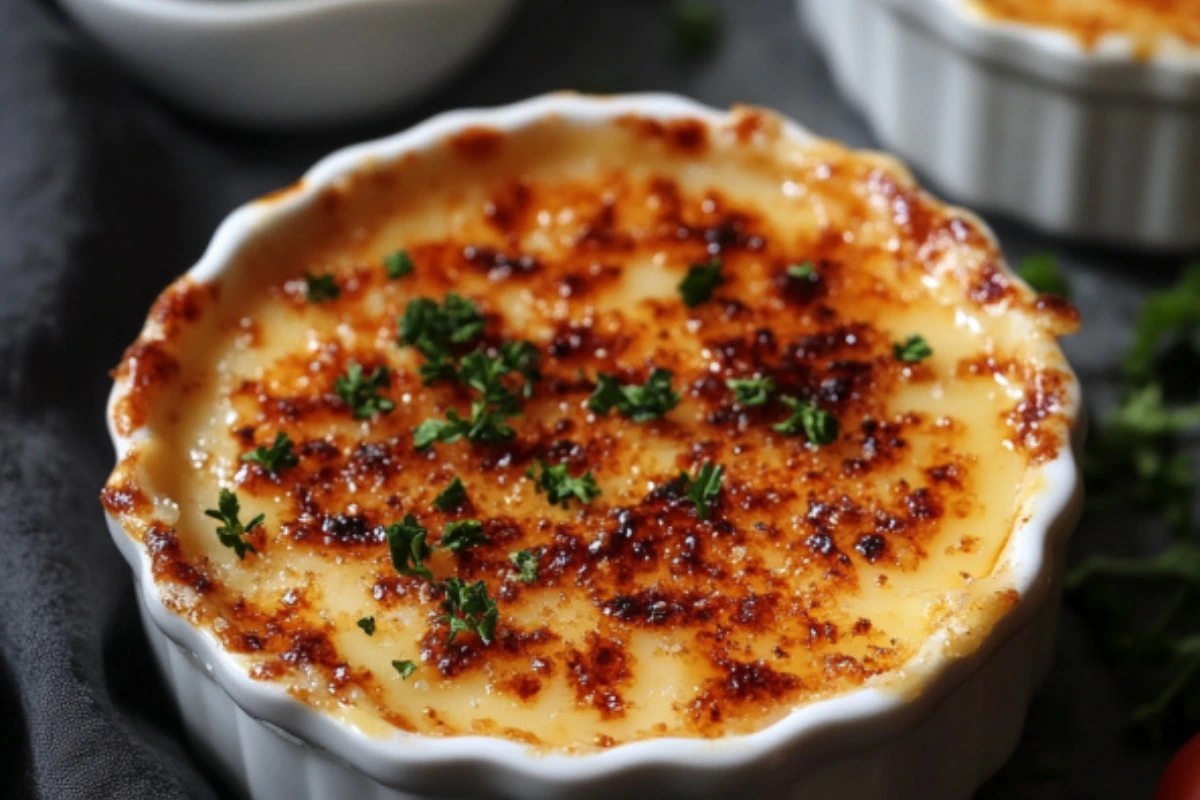
[[[221,224],[188,278],[214,279],[242,248],[269,237],[274,223],[306,209],[355,170],[437,146],[467,127],[512,131],[547,116],[587,126],[629,114],[709,125],[733,119],[668,95],[550,95],[444,114],[337,152],[313,167],[298,188],[239,209]],[[811,140],[792,125],[784,134]],[[149,435],[143,428],[125,437],[113,425],[113,404],[128,390],[119,380],[109,405],[119,458]],[[1076,420],[1079,402],[1073,384],[1070,414]],[[480,736],[372,738],[304,705],[276,684],[252,680],[210,632],[163,606],[144,546],[112,516],[108,522],[133,570],[146,634],[197,751],[256,800],[955,800],[970,795],[1012,753],[1048,666],[1063,549],[1080,501],[1078,438],[1042,465],[1045,489],[1022,506],[1022,523],[1001,554],[1020,600],[968,656],[947,657],[946,639],[935,636],[905,664],[907,674],[923,678],[919,692],[860,688],[799,708],[751,735],[649,740],[584,756],[538,756],[512,741]]]

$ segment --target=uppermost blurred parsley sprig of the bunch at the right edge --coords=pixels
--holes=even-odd
[[[1188,267],[1174,288],[1146,297],[1126,353],[1126,379],[1134,385],[1151,381],[1159,354],[1172,339],[1200,350],[1200,264]]]

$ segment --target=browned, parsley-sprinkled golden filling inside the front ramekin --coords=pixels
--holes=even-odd
[[[469,130],[235,261],[125,356],[102,499],[170,608],[372,734],[586,752],[901,691],[1015,602],[1068,446],[1074,311],[764,112]]]

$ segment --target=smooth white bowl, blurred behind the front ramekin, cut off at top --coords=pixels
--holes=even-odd
[[[138,78],[227,124],[397,108],[452,76],[517,0],[61,0]]]

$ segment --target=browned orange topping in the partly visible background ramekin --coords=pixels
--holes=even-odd
[[[972,0],[990,17],[1057,28],[1094,46],[1110,35],[1130,37],[1142,54],[1164,41],[1200,44],[1200,0]]]

